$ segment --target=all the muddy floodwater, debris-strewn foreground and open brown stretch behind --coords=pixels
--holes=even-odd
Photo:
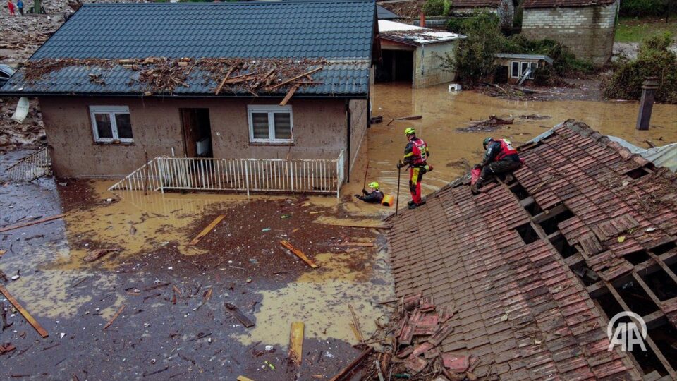
[[[482,155],[486,135],[527,140],[566,119],[645,146],[677,141],[677,106],[657,104],[652,128],[635,131],[637,104],[606,102],[515,102],[477,92],[449,94],[446,86],[411,90],[376,85],[372,126],[342,197],[272,197],[195,193],[124,192],[110,181],[42,179],[0,182],[0,225],[66,213],[62,219],[0,234],[0,269],[16,281],[5,285],[47,329],[40,338],[8,308],[11,327],[0,341],[16,351],[0,356],[0,378],[109,380],[329,378],[353,360],[357,349],[348,304],[369,337],[393,297],[387,247],[377,229],[394,208],[355,200],[367,181],[396,192],[395,164],[415,127],[432,150],[430,193],[463,174]],[[391,118],[421,114],[417,121]],[[459,132],[469,121],[513,115],[515,123],[492,133]],[[519,119],[539,114],[549,119]],[[4,168],[25,152],[0,156]],[[402,173],[400,205],[408,200]],[[108,199],[111,200],[108,200]],[[226,219],[195,246],[188,242],[219,214]],[[290,241],[319,267],[283,250]],[[345,247],[341,243],[373,243]],[[119,249],[95,262],[89,250]],[[0,298],[3,301],[4,298]],[[247,329],[226,312],[233,303],[255,320]],[[106,324],[116,316],[110,327]],[[305,323],[300,368],[286,361],[291,322]],[[379,323],[379,324],[380,324]],[[266,346],[273,351],[264,351]],[[270,368],[264,361],[274,365]]]

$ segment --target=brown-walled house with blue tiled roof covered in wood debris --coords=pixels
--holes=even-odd
[[[39,98],[57,176],[336,191],[369,121],[376,20],[369,0],[85,4],[0,91]]]

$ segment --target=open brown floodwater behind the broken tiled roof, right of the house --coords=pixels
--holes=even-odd
[[[508,138],[519,145],[567,119],[583,121],[597,131],[618,136],[640,147],[648,147],[645,140],[651,140],[656,145],[677,142],[677,105],[655,104],[649,131],[635,130],[637,112],[637,102],[510,101],[472,91],[452,95],[446,85],[425,89],[411,89],[401,84],[374,85],[372,115],[382,115],[384,122],[373,125],[367,135],[367,179],[378,181],[385,193],[396,193],[395,164],[401,159],[407,143],[403,133],[407,127],[416,129],[428,143],[432,154],[429,163],[434,166],[434,171],[423,179],[424,194],[436,191],[479,162],[484,153],[482,140],[485,137]],[[551,119],[518,118],[531,114],[551,116]],[[394,121],[386,126],[391,119],[408,115],[422,115],[423,118]],[[470,121],[487,119],[490,115],[512,115],[515,123],[493,133],[456,131],[458,127],[468,126]],[[360,173],[351,176],[348,187],[351,195],[359,192],[365,167],[366,164],[355,167]],[[400,207],[406,206],[405,202],[410,199],[407,182],[408,172],[403,169]]]

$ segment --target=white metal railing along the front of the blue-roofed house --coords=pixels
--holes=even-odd
[[[243,191],[336,193],[344,179],[337,159],[213,159],[156,157],[110,191]]]

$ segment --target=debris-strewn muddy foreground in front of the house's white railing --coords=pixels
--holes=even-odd
[[[20,153],[0,156],[0,168]],[[378,213],[355,215],[354,202],[335,198],[118,198],[106,185],[0,186],[0,225],[66,214],[0,233],[0,269],[20,274],[5,286],[49,332],[42,339],[0,297],[11,324],[0,342],[16,346],[0,356],[2,379],[324,379],[359,353],[348,304],[367,337],[387,315],[378,302],[392,298],[392,281],[379,231],[329,225],[379,224]],[[219,214],[226,219],[188,245]],[[283,239],[319,267],[283,250]],[[85,262],[94,248],[121,250]],[[225,303],[255,327],[243,327]],[[305,322],[299,367],[287,361],[293,321]]]

